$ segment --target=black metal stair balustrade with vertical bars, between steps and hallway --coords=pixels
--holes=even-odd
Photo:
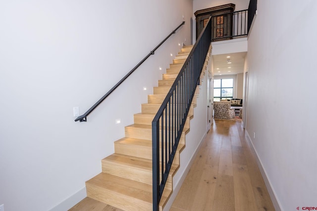
[[[153,210],[159,210],[186,118],[211,43],[211,18],[188,55],[152,122]]]

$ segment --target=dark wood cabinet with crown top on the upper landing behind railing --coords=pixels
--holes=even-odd
[[[197,10],[196,16],[196,39],[203,31],[210,16],[212,25],[212,40],[232,39],[232,14],[235,4],[229,3],[207,9]]]

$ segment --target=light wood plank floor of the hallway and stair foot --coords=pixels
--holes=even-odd
[[[241,121],[215,120],[170,211],[274,211]],[[70,211],[121,211],[85,198]]]

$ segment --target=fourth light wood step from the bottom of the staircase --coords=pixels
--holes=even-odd
[[[152,141],[152,126],[133,124],[124,127],[124,131],[125,137],[127,138],[145,139]],[[182,134],[185,135],[188,132],[189,128],[184,127]]]

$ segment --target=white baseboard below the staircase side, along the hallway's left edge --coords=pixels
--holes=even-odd
[[[203,138],[200,140],[200,143],[198,144],[198,146],[197,146],[197,148],[195,150],[195,153],[192,155],[192,157],[190,158],[190,161],[188,162],[186,168],[182,172],[181,178],[178,180],[177,184],[175,185],[175,188],[173,188],[173,193],[169,197],[169,199],[168,199],[163,211],[169,211],[170,210],[170,208],[171,208],[171,206],[172,206],[172,204],[173,204],[173,202],[174,202],[174,200],[175,200],[175,198],[176,198],[176,196],[178,194],[178,191],[180,190],[180,188],[181,188],[181,186],[182,186],[182,184],[183,184],[183,182],[184,182],[184,180],[185,180],[185,178],[187,176],[187,173],[190,170],[190,168],[191,168],[191,166],[192,166],[192,164],[193,164],[193,162],[194,162],[194,160],[195,160],[195,158],[196,158],[196,156],[197,156],[197,154],[198,154],[198,152],[199,152],[199,150],[200,150],[200,148],[201,148],[206,136],[207,136],[207,132],[204,134]],[[181,154],[180,154],[180,156],[181,156]]]

